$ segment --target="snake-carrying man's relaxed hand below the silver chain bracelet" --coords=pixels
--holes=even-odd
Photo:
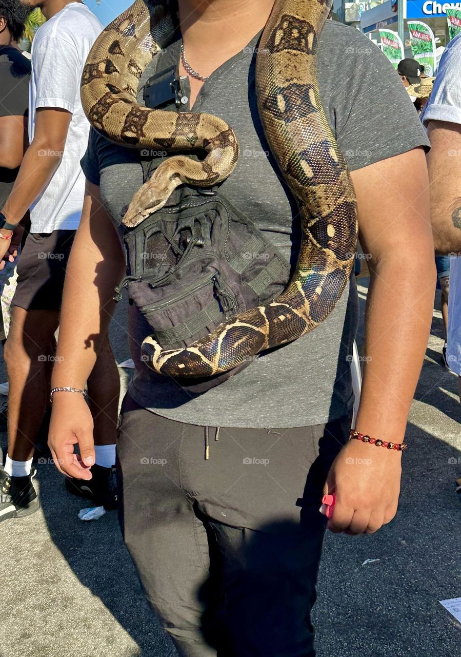
[[[74,453],[74,445],[79,454]],[[78,392],[55,392],[51,413],[48,445],[56,468],[76,479],[92,478],[89,470],[95,464],[93,417]]]

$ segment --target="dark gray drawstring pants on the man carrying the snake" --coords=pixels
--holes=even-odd
[[[187,657],[311,657],[322,486],[351,417],[206,428],[126,396],[120,520],[146,597]],[[205,443],[209,438],[209,459]]]

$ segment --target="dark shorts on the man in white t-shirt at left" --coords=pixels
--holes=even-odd
[[[60,310],[75,235],[76,231],[29,233],[18,263],[13,306],[25,310]]]

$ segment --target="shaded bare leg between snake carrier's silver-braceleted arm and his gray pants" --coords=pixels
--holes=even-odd
[[[114,445],[117,440],[120,374],[106,336],[88,379],[88,399],[93,415],[95,445]]]

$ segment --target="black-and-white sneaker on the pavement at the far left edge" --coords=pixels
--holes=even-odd
[[[37,491],[32,479],[37,474],[33,468],[30,476],[11,477],[0,467],[0,522],[7,518],[24,518],[40,508]]]

